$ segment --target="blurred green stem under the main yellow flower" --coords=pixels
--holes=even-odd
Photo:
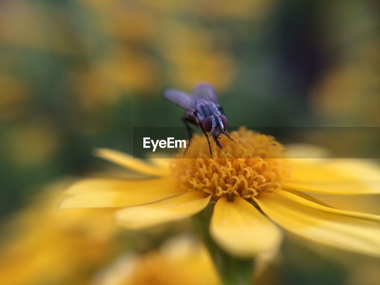
[[[215,268],[219,272],[223,285],[252,284],[254,259],[242,259],[232,256],[222,250],[210,236],[209,225],[214,210],[210,203],[203,211],[193,216],[193,224],[199,236],[206,245]]]

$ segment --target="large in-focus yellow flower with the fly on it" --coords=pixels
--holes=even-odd
[[[272,136],[244,128],[231,137],[222,136],[223,149],[214,143],[210,155],[206,138],[195,136],[187,153],[169,163],[100,149],[99,157],[155,178],[82,180],[60,207],[122,207],[117,221],[139,229],[215,203],[211,237],[240,258],[277,247],[282,231],[275,224],[312,241],[380,256],[380,216],[328,207],[304,193],[379,194],[379,168],[360,160],[286,158]]]

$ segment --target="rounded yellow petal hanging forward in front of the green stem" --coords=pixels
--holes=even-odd
[[[242,258],[271,251],[281,242],[281,231],[252,204],[241,197],[215,204],[210,234],[227,252]]]

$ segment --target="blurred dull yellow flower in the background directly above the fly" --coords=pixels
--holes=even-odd
[[[160,43],[168,61],[170,85],[184,89],[196,82],[209,82],[218,90],[229,87],[236,74],[236,63],[228,49],[218,44],[212,30],[199,30],[169,22],[170,37]]]

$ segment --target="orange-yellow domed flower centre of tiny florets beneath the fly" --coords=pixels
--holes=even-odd
[[[214,201],[222,196],[250,199],[281,189],[281,181],[290,174],[284,147],[274,137],[246,128],[230,136],[233,140],[220,137],[222,149],[212,142],[210,154],[206,137],[194,135],[187,152],[171,163],[177,187],[211,194]]]

